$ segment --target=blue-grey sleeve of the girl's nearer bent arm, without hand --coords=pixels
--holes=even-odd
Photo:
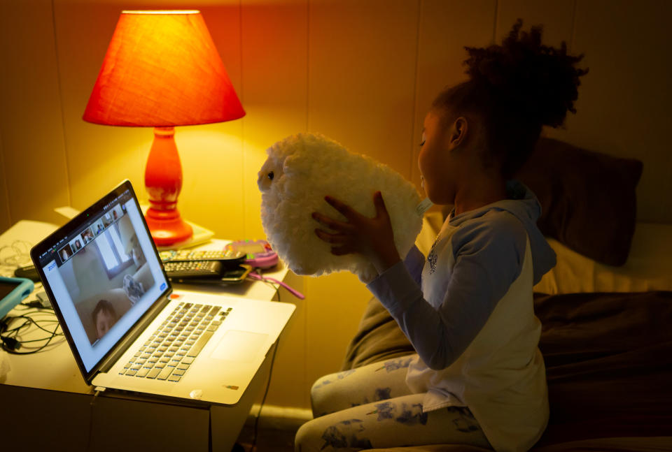
[[[393,265],[367,285],[434,370],[461,356],[520,274],[527,235],[517,219],[508,217],[451,237],[455,264],[437,307],[423,298],[403,265]]]

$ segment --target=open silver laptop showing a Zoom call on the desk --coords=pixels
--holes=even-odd
[[[174,293],[126,180],[31,249],[87,384],[235,404],[295,306]]]

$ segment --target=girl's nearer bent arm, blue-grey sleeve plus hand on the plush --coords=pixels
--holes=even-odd
[[[318,237],[334,245],[333,254],[359,252],[370,258],[379,276],[367,287],[388,309],[422,360],[436,370],[451,365],[518,277],[527,238],[524,226],[510,214],[497,214],[456,232],[451,237],[455,264],[447,291],[441,305],[433,307],[400,261],[379,194],[374,196],[377,214],[373,219],[334,198],[326,199],[348,221],[313,214],[334,231],[317,229]]]

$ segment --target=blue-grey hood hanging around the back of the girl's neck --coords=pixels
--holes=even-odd
[[[482,217],[490,210],[504,210],[509,212],[525,226],[533,262],[534,284],[537,284],[548,270],[555,266],[555,251],[548,245],[546,238],[539,231],[537,220],[541,215],[541,205],[535,194],[525,184],[517,180],[510,180],[506,184],[507,199],[497,201],[469,210],[459,215],[450,214],[450,225],[460,226],[464,221]]]

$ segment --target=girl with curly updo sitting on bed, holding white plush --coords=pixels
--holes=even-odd
[[[519,20],[502,45],[467,48],[470,79],[437,96],[425,118],[423,188],[433,203],[454,205],[426,261],[417,249],[400,260],[379,193],[372,219],[329,196],[346,221],[313,214],[333,254],[360,253],[377,268],[367,287],[417,354],[316,381],[316,418],[297,432],[297,451],[525,451],[542,435],[549,407],[532,286],[555,255],[536,226],[537,199],[511,177],[542,125],[575,112],[586,71],[564,44],[549,48],[540,29],[520,28]],[[412,268],[421,268],[421,287]]]

